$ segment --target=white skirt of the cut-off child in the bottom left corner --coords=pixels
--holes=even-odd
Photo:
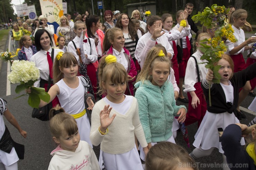
[[[10,166],[13,163],[17,162],[19,160],[17,153],[14,149],[14,147],[12,147],[11,152],[10,153],[6,153],[2,150],[0,150],[0,162],[2,162],[5,166]]]

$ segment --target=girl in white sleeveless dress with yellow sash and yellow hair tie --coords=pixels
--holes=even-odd
[[[77,77],[78,66],[77,60],[72,53],[58,53],[53,66],[54,85],[49,89],[48,94],[51,96],[51,102],[56,96],[61,106],[68,114],[73,116],[77,122],[78,129],[81,133],[81,140],[90,144],[90,121],[85,111],[84,94],[87,93],[86,86],[88,80],[83,76]],[[94,103],[91,97],[86,99],[88,110],[92,110]],[[47,102],[41,100],[39,107],[43,107]]]

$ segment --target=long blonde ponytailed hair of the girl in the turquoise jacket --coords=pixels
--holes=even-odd
[[[142,81],[144,83],[145,80],[152,81],[152,69],[158,62],[167,62],[170,65],[169,72],[171,71],[171,61],[166,57],[166,51],[162,50],[164,53],[164,57],[159,57],[159,53],[161,52],[161,48],[159,47],[153,47],[148,51],[146,60],[144,62],[144,66],[141,69],[141,72],[138,74],[138,77],[136,79],[136,82]]]

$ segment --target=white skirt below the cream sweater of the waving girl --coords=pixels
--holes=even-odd
[[[101,169],[104,168],[103,163],[106,170],[143,170],[136,145],[132,150],[122,154],[110,154],[100,150]]]

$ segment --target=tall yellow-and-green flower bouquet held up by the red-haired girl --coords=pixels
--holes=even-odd
[[[226,9],[225,6],[213,4],[211,8],[206,7],[202,12],[198,12],[198,14],[192,17],[195,23],[200,21],[206,28],[215,31],[213,38],[205,39],[200,42],[202,45],[200,50],[204,53],[201,60],[207,60],[207,62],[204,62],[207,63],[205,68],[213,71],[213,83],[220,83],[221,76],[218,73],[220,66],[216,65],[216,63],[221,59],[221,55],[227,51],[226,40],[236,42],[236,38],[233,34],[234,30],[231,25],[225,24],[228,12],[229,9]],[[210,89],[209,105],[211,106]]]

